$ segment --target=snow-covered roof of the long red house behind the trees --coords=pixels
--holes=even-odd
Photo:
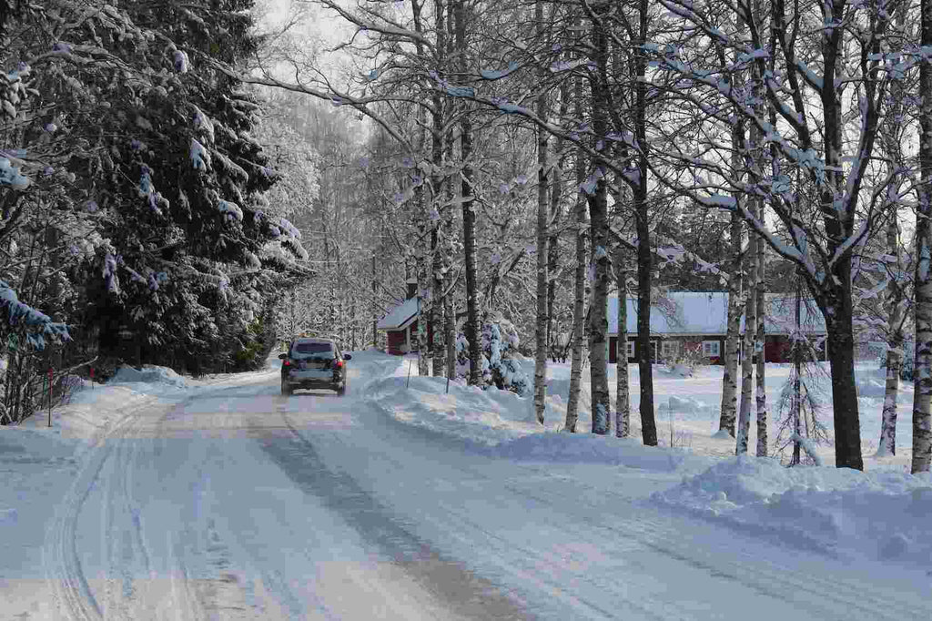
[[[795,330],[796,297],[767,294],[767,334],[788,334]],[[808,302],[808,303],[807,303]],[[637,332],[637,298],[627,299],[627,331]],[[802,331],[824,333],[825,320],[812,300],[803,300]],[[651,334],[725,334],[728,331],[728,293],[724,291],[675,291],[653,300]],[[741,320],[744,331],[744,318]],[[609,297],[609,334],[618,334],[618,297]]]

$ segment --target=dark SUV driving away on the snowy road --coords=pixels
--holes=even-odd
[[[334,341],[327,338],[295,338],[281,358],[281,393],[295,390],[325,388],[342,395],[347,390],[346,361]]]

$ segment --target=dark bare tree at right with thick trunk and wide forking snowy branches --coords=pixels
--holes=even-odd
[[[705,40],[713,48],[741,52],[739,61],[722,71],[709,67],[698,54],[685,53],[685,47],[658,49],[658,65],[695,87],[679,90],[680,101],[724,123],[726,108],[719,106],[734,106],[732,109],[773,145],[777,159],[758,171],[749,168],[747,182],[723,166],[724,145],[704,155],[684,149],[682,156],[691,162],[692,170],[709,175],[701,183],[685,186],[655,161],[656,170],[665,175],[665,183],[701,204],[737,211],[779,255],[802,267],[826,318],[831,342],[835,462],[839,467],[861,469],[852,254],[883,221],[877,212],[887,182],[874,182],[869,169],[889,83],[888,64],[879,52],[890,36],[893,13],[888,9],[893,5],[836,0],[789,7],[783,0],[774,0],[768,32],[753,4],[741,1],[735,7],[747,16],[745,38],[716,26],[711,3],[661,1],[682,18],[692,42]],[[829,25],[810,28],[816,23]],[[757,67],[760,80],[752,88],[731,89],[722,79],[723,73],[747,70],[752,65]],[[758,105],[757,93],[774,110],[775,125],[766,108]],[[672,159],[667,162],[672,164]],[[787,174],[793,169],[802,171],[802,181],[810,188],[797,188],[796,192],[811,191],[816,197],[815,210],[801,213],[793,209],[797,203],[792,200],[795,192]],[[733,190],[764,198],[789,242],[780,240],[770,223],[754,214],[747,200],[729,196]]]

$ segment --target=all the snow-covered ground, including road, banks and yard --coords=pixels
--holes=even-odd
[[[543,428],[529,399],[409,367],[354,352],[343,399],[281,397],[274,363],[126,369],[51,428],[0,428],[0,618],[928,618],[911,386],[898,455],[874,457],[870,365],[864,473],[733,457],[719,367],[656,368],[659,448],[635,369],[618,439],[587,433],[588,377],[582,433],[559,431],[569,366],[549,366]],[[769,403],[788,370],[768,366]]]

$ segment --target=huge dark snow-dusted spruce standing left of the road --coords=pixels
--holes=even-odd
[[[257,104],[218,69],[254,49],[250,6],[132,4],[119,24],[130,35],[103,40],[117,66],[89,81],[114,101],[93,139],[113,181],[95,187],[94,200],[109,239],[99,257],[115,269],[90,288],[86,318],[103,352],[195,372],[223,368],[263,297],[295,271],[294,256],[305,256],[298,231],[262,210],[261,192],[276,175],[249,135]],[[101,34],[84,23],[75,39]],[[112,79],[121,63],[134,79]],[[267,243],[284,252],[260,257]]]

